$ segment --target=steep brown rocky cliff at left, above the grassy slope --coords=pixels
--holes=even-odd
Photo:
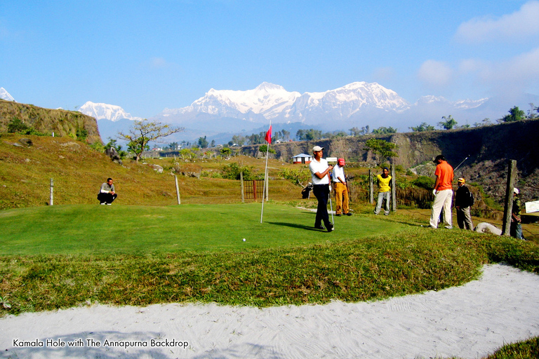
[[[86,133],[86,142],[102,142],[95,118],[78,111],[44,109],[32,104],[0,100],[0,133],[7,132],[8,123],[13,118],[47,135],[54,133],[55,136],[77,138],[77,133]]]

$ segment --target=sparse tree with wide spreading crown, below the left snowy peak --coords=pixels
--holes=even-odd
[[[142,121],[135,121],[129,128],[128,133],[118,133],[119,140],[128,141],[128,149],[135,153],[135,161],[138,162],[140,155],[146,149],[149,149],[148,142],[160,142],[161,138],[178,133],[184,130],[179,127],[171,127],[168,124],[159,121],[148,121],[146,118]]]

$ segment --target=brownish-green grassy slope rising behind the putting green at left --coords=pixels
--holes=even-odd
[[[32,147],[15,147],[21,137],[29,137]],[[171,160],[152,160],[161,166],[171,165]],[[231,161],[244,165],[257,165],[263,161],[255,158],[212,160],[204,165],[217,170]],[[270,161],[274,168],[279,161]],[[263,171],[263,170],[262,170]],[[275,172],[276,170],[272,170]],[[270,172],[270,174],[272,173]],[[0,210],[47,205],[49,185],[54,179],[54,204],[97,203],[96,197],[102,182],[114,179],[119,197],[117,204],[124,205],[173,205],[177,203],[174,177],[159,174],[149,165],[126,160],[117,165],[93,151],[82,142],[69,137],[37,137],[13,134],[0,135]],[[182,203],[239,203],[239,182],[228,179],[178,176]],[[300,189],[287,181],[274,181],[270,199],[300,198]]]

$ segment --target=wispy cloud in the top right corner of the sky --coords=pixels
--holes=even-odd
[[[461,24],[455,39],[464,43],[517,41],[539,34],[539,1],[528,1],[519,11],[500,18],[473,18]]]

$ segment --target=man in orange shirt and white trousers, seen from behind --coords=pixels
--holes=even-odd
[[[432,212],[430,214],[430,226],[438,228],[438,219],[440,217],[441,208],[444,208],[444,222],[446,229],[452,229],[451,221],[451,200],[453,199],[453,167],[447,163],[443,155],[438,155],[434,159],[437,163],[436,182],[434,183],[434,203],[432,204]]]

